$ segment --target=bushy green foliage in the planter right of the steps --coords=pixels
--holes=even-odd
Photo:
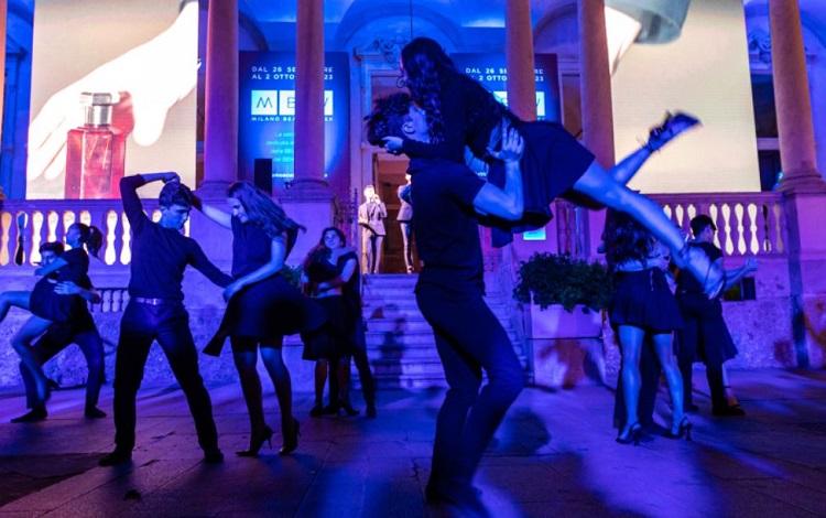
[[[583,304],[599,311],[608,307],[612,293],[611,276],[599,262],[536,252],[520,265],[513,298],[522,303],[533,302],[542,310],[562,304],[570,312]]]

